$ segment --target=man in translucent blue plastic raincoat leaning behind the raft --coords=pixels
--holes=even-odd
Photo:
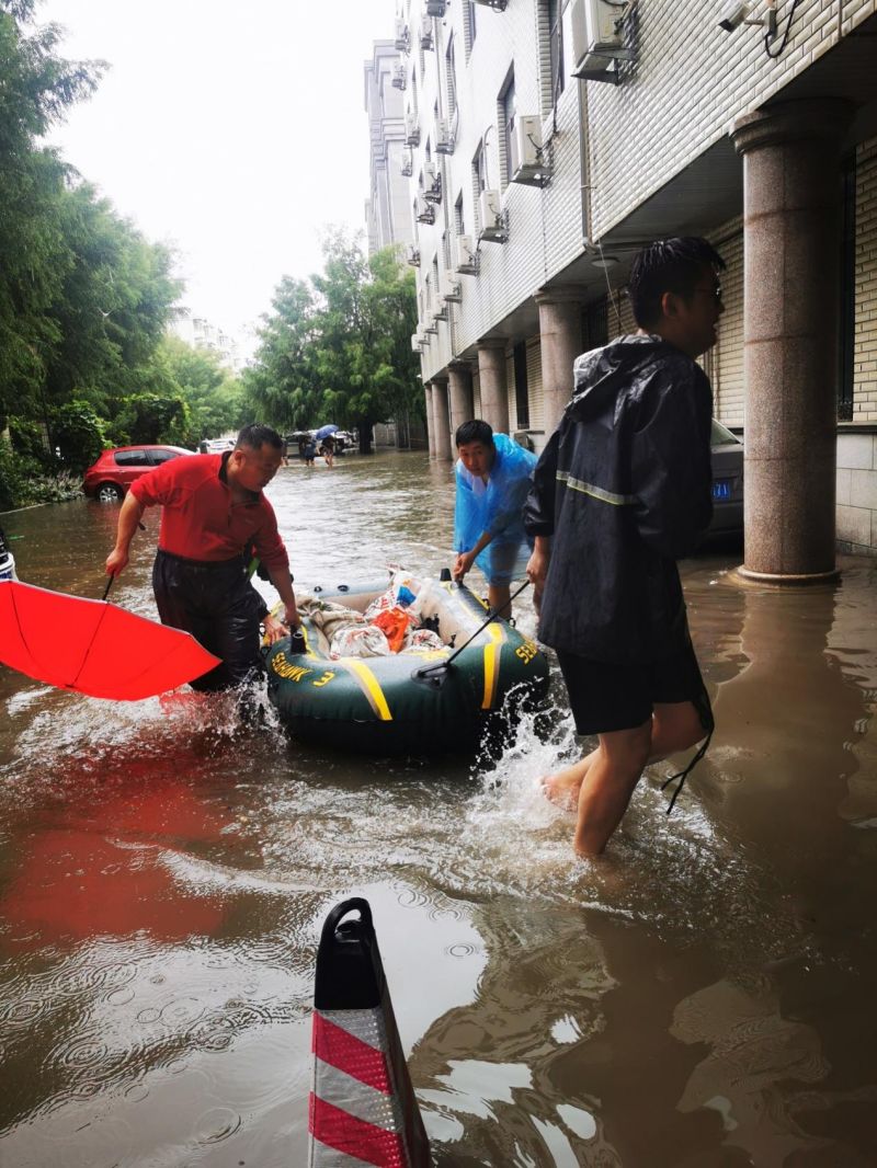
[[[526,576],[532,548],[522,512],[537,458],[507,434],[495,434],[481,419],[464,422],[456,444],[454,579],[462,580],[477,564],[488,580],[491,609],[507,620],[511,582]]]

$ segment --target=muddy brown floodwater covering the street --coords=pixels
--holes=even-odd
[[[292,465],[269,498],[302,584],[451,561],[423,456]],[[22,579],[97,597],[117,514],[0,523]],[[146,524],[115,598],[153,614]],[[581,746],[554,663],[551,741],[524,724],[496,767],[0,668],[0,1164],[304,1168],[313,961],[350,895],[434,1163],[877,1164],[876,569],[778,593],[739,561],[684,565],[712,749],[670,818],[670,764],[647,773],[594,863],[536,787]]]

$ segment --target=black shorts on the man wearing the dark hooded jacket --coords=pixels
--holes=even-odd
[[[710,729],[710,703],[691,641],[678,655],[649,665],[608,665],[562,649],[558,661],[580,735],[635,730],[649,721],[656,704],[677,702],[693,702],[704,729]]]

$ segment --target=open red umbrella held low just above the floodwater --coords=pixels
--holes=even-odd
[[[0,661],[49,686],[117,702],[164,694],[221,663],[179,628],[16,580],[0,582]]]

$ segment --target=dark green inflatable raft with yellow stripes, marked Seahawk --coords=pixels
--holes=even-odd
[[[448,665],[489,616],[468,588],[414,580],[421,618],[437,628],[442,649],[333,660],[323,632],[302,618],[306,652],[289,638],[265,646],[268,687],[281,719],[303,739],[377,753],[471,751],[495,726],[536,708],[548,689],[548,662],[505,620],[492,620]],[[320,600],[357,612],[387,584],[315,589]]]

